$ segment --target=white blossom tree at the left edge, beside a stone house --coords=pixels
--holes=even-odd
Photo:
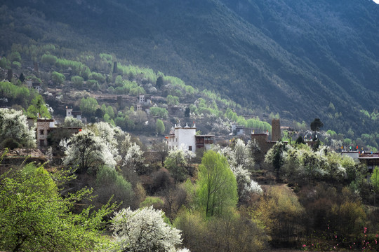
[[[26,148],[36,146],[34,128],[29,128],[27,117],[22,114],[22,111],[0,109],[0,143],[7,139]]]

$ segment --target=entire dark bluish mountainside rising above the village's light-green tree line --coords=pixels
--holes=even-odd
[[[22,6],[20,19],[1,22],[9,31],[0,38],[4,52],[27,38],[106,51],[282,118],[375,131],[375,121],[357,124],[359,110],[371,113],[379,100],[379,6],[370,1],[4,3]],[[331,102],[335,111],[328,111]]]

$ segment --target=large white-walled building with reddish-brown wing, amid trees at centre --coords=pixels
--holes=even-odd
[[[206,150],[211,148],[213,137],[213,135],[197,135],[196,125],[192,127],[175,125],[173,132],[166,136],[166,141],[170,150],[182,148],[185,151],[195,152],[198,148]]]

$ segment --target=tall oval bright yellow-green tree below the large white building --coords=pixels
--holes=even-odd
[[[205,216],[221,216],[237,205],[237,181],[227,159],[207,151],[201,159],[197,180],[197,200]]]

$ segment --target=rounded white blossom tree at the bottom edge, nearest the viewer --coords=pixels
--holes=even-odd
[[[182,243],[180,230],[165,223],[163,211],[153,207],[122,209],[114,214],[112,230],[121,251],[176,251]]]

